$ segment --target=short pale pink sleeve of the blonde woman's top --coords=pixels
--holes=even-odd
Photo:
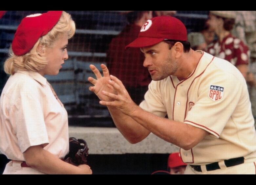
[[[30,146],[46,146],[49,143],[44,122],[43,97],[35,94],[21,93],[10,111],[11,123],[15,125],[14,130],[22,153]]]

